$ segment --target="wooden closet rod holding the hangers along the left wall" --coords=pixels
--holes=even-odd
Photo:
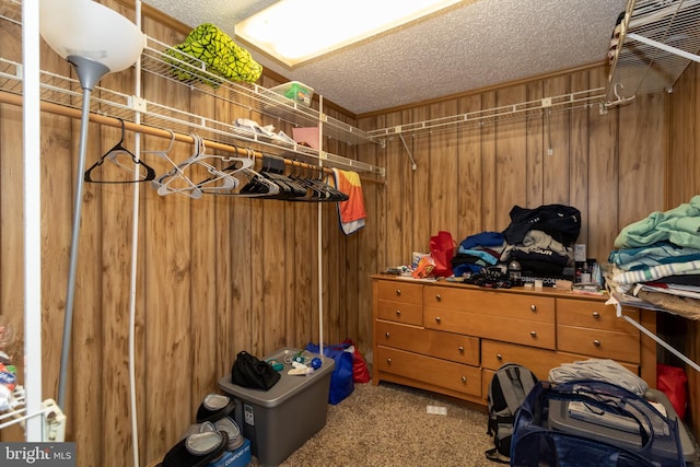
[[[12,94],[12,93],[9,93],[9,92],[0,91],[0,103],[22,106],[22,96],[20,94]],[[59,104],[54,104],[54,103],[50,103],[50,102],[42,101],[42,112],[47,112],[49,114],[60,115],[60,116],[63,116],[63,117],[71,117],[71,118],[77,118],[77,119],[81,118],[80,109],[66,107],[66,106],[62,106],[62,105],[59,105]],[[100,125],[107,125],[107,126],[116,127],[116,128],[121,128],[121,122],[122,122],[118,118],[107,117],[105,115],[98,115],[98,114],[94,114],[92,112],[90,113],[90,121],[93,121],[93,122],[100,124]],[[150,136],[167,138],[167,139],[174,138],[175,141],[186,142],[186,143],[190,143],[190,144],[195,143],[195,138],[192,136],[190,136],[190,135],[183,135],[183,133],[178,133],[178,132],[172,132],[171,133],[167,130],[162,130],[162,129],[155,128],[155,127],[149,127],[147,125],[137,125],[137,124],[132,124],[130,121],[124,121],[124,127],[127,130],[137,131],[137,132],[140,132],[142,135],[150,135]],[[231,145],[231,144],[224,144],[224,143],[221,143],[221,142],[209,141],[209,140],[205,140],[205,139],[202,139],[202,141],[205,142],[205,145],[207,148],[218,149],[220,151],[225,151],[225,152],[230,152],[230,153],[235,153],[235,154],[241,155],[241,156],[254,155],[257,159],[261,159],[262,157],[262,153],[260,151],[255,151],[254,150],[252,153],[249,153],[245,149],[236,148],[236,147]],[[312,165],[312,164],[307,164],[307,163],[304,163],[304,162],[291,161],[289,159],[284,159],[284,163],[287,165],[292,166],[292,167],[314,168],[314,170],[320,168],[325,174],[332,174],[332,171],[330,168],[319,167],[317,165]]]

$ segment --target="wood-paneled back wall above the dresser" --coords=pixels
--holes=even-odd
[[[603,67],[520,83],[497,91],[361,118],[366,129],[489,109],[600,87]],[[600,113],[598,105],[527,119],[407,137],[411,164],[398,138],[377,162],[386,184],[377,198],[385,230],[380,266],[427,252],[430,236],[446,230],[459,242],[502,231],[513,206],[574,206],[582,213],[579,242],[588,257],[607,260],[620,229],[664,207],[665,96],[639,96],[634,105]]]

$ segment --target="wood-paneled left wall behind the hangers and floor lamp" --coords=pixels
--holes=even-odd
[[[133,19],[133,11],[121,2],[104,3]],[[150,17],[144,19],[143,30],[166,44],[179,44],[185,36]],[[0,24],[3,58],[21,61],[20,36],[19,26]],[[42,68],[74,75],[44,43]],[[261,84],[278,82],[265,77]],[[98,85],[131,94],[133,69],[109,74]],[[150,102],[226,122],[252,118],[291,135],[291,128],[244,106],[222,104],[225,100],[149,74],[142,93]],[[337,110],[327,113],[348,120]],[[44,398],[57,397],[79,129],[75,119],[42,114]],[[18,330],[23,328],[24,285],[21,135],[22,108],[0,104],[0,318]],[[90,124],[86,166],[119,138],[118,128]],[[133,148],[135,141],[135,133],[127,131],[125,145]],[[141,138],[143,150],[163,150],[168,142]],[[348,156],[355,152],[345,143],[334,143],[329,150]],[[177,142],[168,155],[180,162],[192,152],[191,144]],[[158,173],[167,167],[153,154],[142,156]],[[368,196],[372,189],[368,187]],[[237,352],[264,357],[280,348],[318,342],[319,277],[324,341],[351,338],[361,349],[371,347],[369,275],[377,269],[376,248],[363,246],[363,232],[352,236],[341,232],[335,203],[161,197],[145,184],[138,197],[135,348],[141,465],[178,441],[202,398],[219,390],[218,380],[230,374]],[[82,199],[63,407],[67,439],[77,443],[78,465],[116,467],[130,465],[133,450],[128,370],[133,185],[85,184]],[[22,361],[21,331],[9,350],[15,362]],[[7,430],[0,436],[21,440],[23,433]]]

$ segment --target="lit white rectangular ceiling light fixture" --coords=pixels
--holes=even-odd
[[[459,0],[280,0],[235,25],[236,38],[293,67]]]

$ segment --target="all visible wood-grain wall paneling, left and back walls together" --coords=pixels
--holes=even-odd
[[[120,2],[105,3],[133,17]],[[182,31],[148,17],[143,27],[168,44],[184,37]],[[8,58],[19,60],[18,37],[18,31],[0,30],[3,57],[14,55]],[[42,62],[45,69],[71,73],[45,45]],[[443,103],[418,104],[359,121],[341,112],[331,115],[374,129],[604,83],[600,67]],[[100,84],[131,92],[133,77],[130,72],[109,75]],[[276,82],[265,78],[262,84]],[[695,96],[695,91],[688,92]],[[153,78],[144,80],[143,94],[148,100],[221,120],[259,117]],[[695,115],[695,104],[685,105],[692,106],[686,112]],[[238,351],[264,355],[280,347],[317,341],[319,292],[324,340],[350,337],[361,351],[370,350],[369,275],[408,262],[411,252],[428,249],[430,236],[439,230],[452,232],[459,241],[472,233],[503,230],[514,205],[568,203],[582,211],[580,241],[588,245],[588,256],[607,258],[622,226],[675,203],[676,198],[665,196],[667,175],[676,173],[675,166],[667,173],[665,159],[667,110],[665,94],[657,93],[639,96],[632,105],[604,115],[596,106],[552,114],[548,122],[540,117],[421,135],[407,139],[418,163],[416,171],[398,139],[388,141],[386,148],[330,142],[331,152],[386,167],[385,183],[363,182],[368,224],[350,236],[340,232],[331,205],[215,196],[191,200],[176,195],[160,197],[141,187],[135,326],[141,465],[161,456],[178,440],[202,397],[218,390],[218,378],[230,372]],[[693,122],[687,122],[685,131],[696,138]],[[21,108],[0,105],[1,317],[20,329],[21,131]],[[78,132],[79,121],[42,116],[44,397],[56,397],[57,393]],[[118,138],[118,129],[91,124],[88,163]],[[133,133],[128,133],[127,144],[133,141]],[[144,149],[162,149],[166,143],[153,137],[142,139]],[[183,160],[192,148],[178,143],[173,151],[173,159]],[[690,145],[684,147],[684,153],[681,162],[695,160]],[[680,190],[677,198],[698,191],[698,176],[689,184],[695,185]],[[132,186],[88,184],[83,194],[65,408],[68,439],[78,444],[81,466],[128,465],[133,448],[128,389],[133,198]],[[695,342],[697,354],[697,337]],[[16,360],[21,360],[21,348],[19,341],[12,349]],[[697,393],[695,397],[697,404]],[[10,436],[2,433],[3,439]]]

